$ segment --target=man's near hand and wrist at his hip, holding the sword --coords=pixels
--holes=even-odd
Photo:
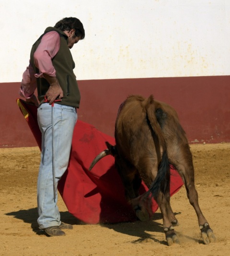
[[[63,98],[63,91],[59,85],[57,77],[52,77],[45,73],[43,75],[50,84],[49,89],[46,92],[46,98],[49,101],[49,105],[51,105],[57,98]]]

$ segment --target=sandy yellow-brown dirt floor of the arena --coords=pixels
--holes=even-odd
[[[167,246],[158,210],[148,222],[87,225],[71,216],[59,196],[63,222],[73,224],[63,237],[37,228],[38,147],[0,148],[1,256],[229,256],[230,143],[191,145],[196,189],[216,242],[201,240],[196,213],[184,186],[171,202],[180,244]]]

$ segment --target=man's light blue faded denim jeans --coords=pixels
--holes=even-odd
[[[69,164],[73,130],[77,122],[76,109],[56,103],[54,107],[48,103],[43,103],[37,110],[37,121],[42,132],[41,162],[37,180],[37,208],[39,216],[37,222],[39,228],[44,229],[61,224],[60,213],[57,206],[57,186],[58,181]],[[54,139],[54,146],[52,146],[52,139]],[[55,193],[53,186],[53,157]]]

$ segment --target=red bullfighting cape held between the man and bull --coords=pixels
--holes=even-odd
[[[41,149],[41,132],[37,124],[37,108],[22,99],[17,103]],[[92,125],[78,121],[72,140],[69,166],[58,183],[58,191],[69,212],[89,224],[135,221],[136,214],[127,203],[125,190],[115,168],[114,158],[101,159],[92,169],[92,160],[106,146],[105,141],[115,145],[115,139],[98,131]],[[183,181],[177,171],[171,169],[170,195],[176,193]],[[140,194],[147,191],[142,182]],[[158,209],[152,199],[152,211]]]

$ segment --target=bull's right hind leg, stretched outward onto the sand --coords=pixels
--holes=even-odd
[[[181,159],[179,161],[179,164],[177,164],[177,170],[184,181],[189,202],[196,211],[202,239],[205,244],[209,244],[210,242],[215,241],[215,236],[207,222],[207,219],[205,218],[205,216],[203,215],[199,207],[198,194],[197,194],[197,191],[195,188],[195,182],[194,182],[194,167],[193,167],[193,161],[192,161],[192,154],[188,146],[185,148],[184,154],[185,154],[184,159]]]

